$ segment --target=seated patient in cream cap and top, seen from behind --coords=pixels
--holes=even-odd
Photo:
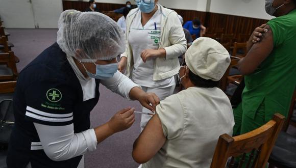
[[[186,90],[156,107],[156,115],[134,143],[133,158],[146,167],[210,167],[219,135],[232,135],[229,98],[218,89],[230,65],[228,51],[210,38],[199,38],[179,71]]]

